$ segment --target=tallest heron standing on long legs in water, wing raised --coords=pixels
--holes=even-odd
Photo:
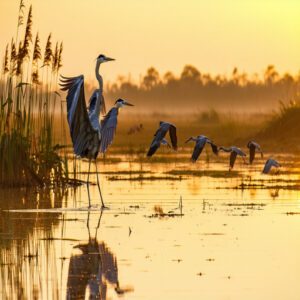
[[[113,61],[113,58],[100,54],[96,59],[96,79],[99,88],[96,89],[89,102],[87,109],[84,96],[84,76],[76,77],[61,76],[61,90],[67,91],[67,118],[70,127],[70,134],[73,143],[74,153],[89,160],[87,189],[89,196],[89,208],[91,207],[89,192],[89,176],[91,161],[94,160],[96,166],[97,186],[101,199],[102,208],[105,208],[97,171],[96,158],[101,145],[101,123],[100,113],[105,113],[105,101],[103,97],[103,78],[100,75],[101,64]]]

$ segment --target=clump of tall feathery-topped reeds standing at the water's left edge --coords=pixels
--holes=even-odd
[[[53,55],[49,35],[41,68],[38,34],[33,43],[31,6],[24,20],[25,5],[20,1],[16,37],[6,47],[1,74],[0,185],[60,185],[68,178],[67,158],[60,155],[63,147],[53,135],[62,44]],[[24,38],[20,39],[23,24]]]

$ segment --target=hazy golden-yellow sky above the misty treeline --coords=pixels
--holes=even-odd
[[[234,67],[262,72],[300,70],[298,0],[25,0],[33,5],[34,32],[63,41],[62,73],[94,78],[95,58],[105,80],[139,80],[148,67],[179,75],[192,64],[229,74]],[[0,53],[16,35],[19,0],[0,0]],[[26,11],[27,13],[27,11]],[[22,34],[21,34],[22,35]]]

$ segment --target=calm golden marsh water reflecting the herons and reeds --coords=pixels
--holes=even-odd
[[[95,185],[90,210],[85,186],[3,190],[1,298],[299,299],[298,160],[282,160],[272,176],[262,162],[233,176],[223,161],[100,163],[102,214]]]

